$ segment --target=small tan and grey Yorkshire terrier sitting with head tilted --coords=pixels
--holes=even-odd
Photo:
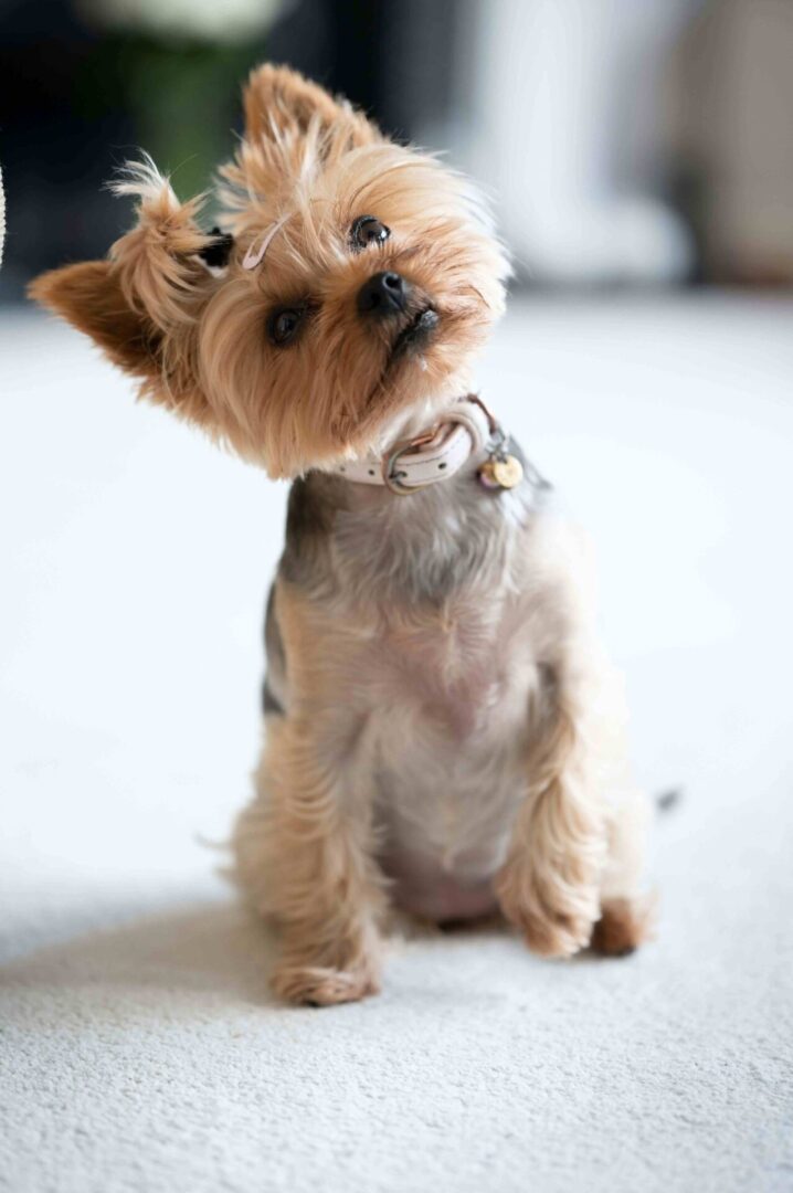
[[[145,397],[291,477],[236,872],[274,990],[379,989],[389,903],[528,946],[649,931],[645,801],[581,540],[472,395],[508,264],[476,191],[292,70],[244,92],[222,234],[145,161],[107,260],[32,285]]]

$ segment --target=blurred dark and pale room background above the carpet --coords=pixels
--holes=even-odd
[[[0,0],[0,301],[206,187],[264,58],[484,180],[534,286],[793,280],[791,0]]]

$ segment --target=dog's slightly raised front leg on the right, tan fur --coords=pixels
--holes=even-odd
[[[526,795],[496,894],[529,948],[570,957],[600,915],[607,829],[597,749],[583,685],[563,665],[540,668],[532,705]]]

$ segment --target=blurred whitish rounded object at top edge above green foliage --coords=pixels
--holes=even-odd
[[[237,42],[268,29],[289,0],[83,0],[93,19],[154,37]]]

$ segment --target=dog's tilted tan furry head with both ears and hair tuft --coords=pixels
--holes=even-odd
[[[464,392],[508,268],[476,192],[346,101],[265,66],[222,168],[227,235],[147,161],[137,225],[31,292],[141,392],[273,476],[377,446]]]

